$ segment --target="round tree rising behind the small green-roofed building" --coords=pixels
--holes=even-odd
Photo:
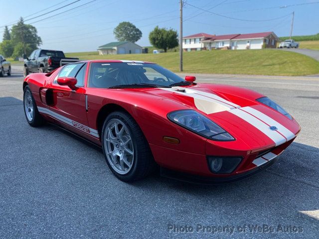
[[[142,37],[142,31],[134,24],[128,21],[120,22],[113,31],[115,38],[119,41],[137,42]]]

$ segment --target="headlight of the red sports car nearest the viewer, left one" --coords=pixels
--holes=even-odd
[[[193,110],[174,111],[169,113],[167,118],[205,138],[217,141],[235,140],[235,138],[222,127]]]

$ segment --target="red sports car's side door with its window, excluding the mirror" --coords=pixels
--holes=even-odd
[[[68,124],[83,133],[89,133],[86,117],[86,96],[84,95],[84,78],[87,63],[69,64],[62,68],[55,77],[48,90],[51,91],[52,104],[47,107],[47,112],[58,121]],[[75,77],[78,81],[77,89],[71,90],[68,86],[57,84],[58,77]]]

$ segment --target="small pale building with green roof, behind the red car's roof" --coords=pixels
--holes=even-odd
[[[98,48],[99,55],[141,54],[142,47],[130,41],[110,42]]]

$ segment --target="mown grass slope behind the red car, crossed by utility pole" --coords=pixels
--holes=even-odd
[[[98,55],[97,52],[66,53],[80,59],[151,61],[179,71],[178,52],[160,54]],[[183,54],[184,72],[244,75],[302,76],[319,74],[319,61],[294,52],[276,49],[193,51]]]

